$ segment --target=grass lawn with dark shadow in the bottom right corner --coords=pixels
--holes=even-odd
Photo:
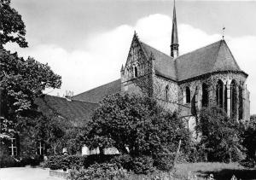
[[[178,177],[188,177],[191,172],[196,174],[199,179],[204,179],[211,173],[217,180],[230,180],[233,175],[235,175],[237,179],[242,180],[256,179],[255,168],[247,169],[238,163],[191,163],[176,166],[175,174],[177,174]]]

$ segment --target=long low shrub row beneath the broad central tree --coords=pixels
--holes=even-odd
[[[56,169],[72,169],[75,167],[88,168],[90,165],[110,163],[117,165],[118,168],[126,169],[127,171],[134,171],[137,174],[147,174],[155,169],[161,171],[170,171],[173,165],[173,157],[169,155],[151,156],[137,156],[131,157],[125,155],[55,155],[49,157],[45,166],[52,170]]]

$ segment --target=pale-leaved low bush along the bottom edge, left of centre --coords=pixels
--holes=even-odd
[[[73,168],[69,176],[70,180],[93,180],[93,179],[125,179],[126,171],[119,169],[116,164],[95,164],[90,165],[89,168],[80,168],[79,170]]]

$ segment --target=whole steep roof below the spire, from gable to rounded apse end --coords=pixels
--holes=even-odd
[[[154,55],[155,73],[172,80],[183,81],[220,71],[242,72],[224,40],[180,55],[174,60],[148,44],[141,44],[148,56]]]

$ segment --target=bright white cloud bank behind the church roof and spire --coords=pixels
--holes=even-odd
[[[178,38],[181,54],[212,44],[221,38],[220,34],[207,34],[206,32],[188,24],[178,25]],[[54,90],[51,94],[61,95],[65,90],[73,90],[75,94],[89,90],[98,85],[108,83],[119,78],[121,64],[125,63],[131,38],[134,30],[139,38],[170,54],[172,19],[167,15],[148,15],[137,20],[135,26],[122,25],[111,31],[95,33],[89,39],[81,39],[84,45],[79,49],[70,51],[55,44],[41,44],[29,49],[18,50],[20,55],[31,55],[36,60],[48,62],[49,66],[62,77],[61,90]],[[236,61],[246,73],[248,89],[251,91],[252,113],[256,113],[256,80],[255,52],[256,37],[225,37],[227,44]]]

